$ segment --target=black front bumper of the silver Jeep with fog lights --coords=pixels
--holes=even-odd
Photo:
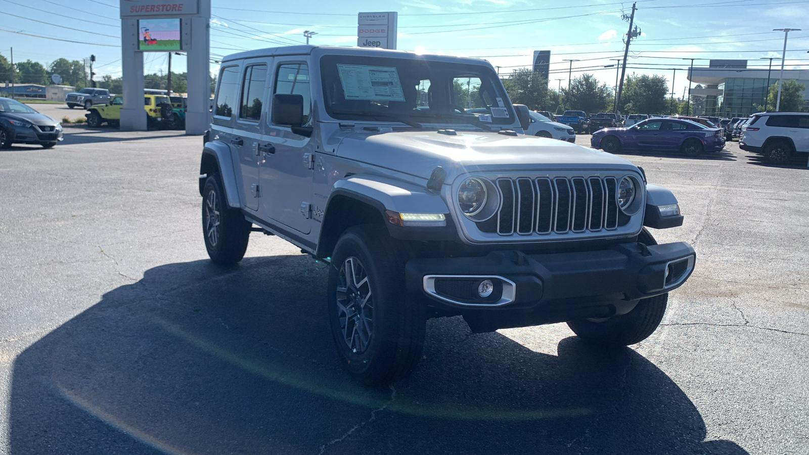
[[[688,279],[696,257],[683,242],[572,253],[497,251],[485,257],[413,259],[405,266],[405,279],[411,296],[426,298],[446,313],[532,314],[526,324],[496,324],[502,328],[570,321],[579,310],[603,314],[604,307],[614,312],[621,302],[659,296]],[[494,291],[484,298],[477,291],[485,279]]]

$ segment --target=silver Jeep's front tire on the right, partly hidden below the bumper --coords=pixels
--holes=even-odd
[[[643,228],[637,242],[643,245],[657,245],[654,237]],[[666,313],[668,293],[637,302],[629,313],[613,316],[606,321],[577,319],[567,325],[578,338],[598,347],[624,347],[649,338],[663,321]]]

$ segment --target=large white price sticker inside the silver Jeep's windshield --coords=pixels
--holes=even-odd
[[[338,63],[337,70],[346,100],[404,101],[399,72],[394,66]]]

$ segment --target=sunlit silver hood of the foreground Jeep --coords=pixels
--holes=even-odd
[[[478,131],[458,131],[455,136],[437,131],[351,132],[340,141],[337,155],[425,179],[442,166],[447,182],[463,172],[491,170],[635,169],[619,156],[570,142]]]

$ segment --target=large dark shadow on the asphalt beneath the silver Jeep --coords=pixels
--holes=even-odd
[[[177,263],[109,291],[15,359],[11,453],[746,453],[631,349],[541,354],[457,317],[430,321],[412,376],[358,386],[325,267]]]

